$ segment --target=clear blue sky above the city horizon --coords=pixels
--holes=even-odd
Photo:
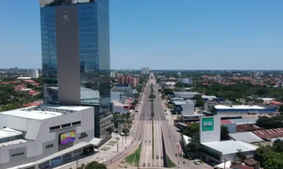
[[[0,68],[41,68],[37,0],[2,1]],[[112,69],[283,69],[282,0],[110,0]]]

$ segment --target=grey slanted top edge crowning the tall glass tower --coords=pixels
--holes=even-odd
[[[39,0],[40,7],[94,2],[94,0]]]

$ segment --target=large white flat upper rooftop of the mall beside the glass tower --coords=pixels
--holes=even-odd
[[[83,111],[89,106],[62,106],[62,105],[40,105],[28,108],[19,108],[12,111],[4,111],[2,115],[11,115],[19,118],[29,118],[34,120],[44,120],[47,118],[54,118],[58,115],[66,115],[75,111]]]

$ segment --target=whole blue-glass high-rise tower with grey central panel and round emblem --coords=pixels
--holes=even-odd
[[[109,0],[40,0],[40,6],[45,104],[94,106],[95,137],[104,139],[113,126]]]

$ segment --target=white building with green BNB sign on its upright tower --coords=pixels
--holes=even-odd
[[[200,118],[200,154],[202,160],[214,163],[233,160],[238,149],[241,149],[247,158],[253,158],[258,146],[242,141],[220,141],[220,119],[220,115]]]

